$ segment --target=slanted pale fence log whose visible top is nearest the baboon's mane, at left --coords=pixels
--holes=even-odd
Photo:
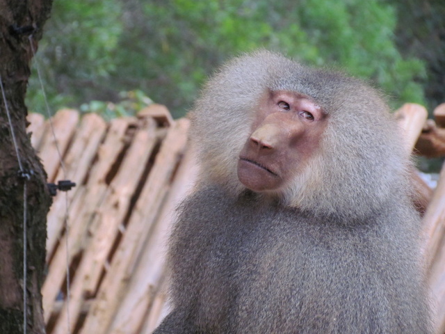
[[[148,180],[133,208],[127,230],[111,262],[110,270],[113,275],[104,278],[81,333],[107,333],[106,329],[113,320],[135,271],[140,250],[153,229],[154,221],[170,188],[172,174],[185,149],[187,130],[188,120],[179,120],[172,125],[163,141]]]

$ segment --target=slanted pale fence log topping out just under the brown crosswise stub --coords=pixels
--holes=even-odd
[[[69,328],[71,331],[74,329],[84,296],[97,288],[115,237],[131,205],[131,195],[136,191],[140,177],[156,145],[155,128],[154,120],[148,119],[142,127],[136,129],[133,142],[122,165],[111,181],[106,196],[90,225],[91,237],[76,270],[76,276],[72,280],[70,301],[65,303],[60,312],[53,334],[65,334],[69,333]],[[68,310],[69,322],[67,321]]]

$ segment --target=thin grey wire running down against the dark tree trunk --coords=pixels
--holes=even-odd
[[[28,308],[26,307],[26,305],[28,305],[28,301],[27,301],[27,276],[26,273],[28,271],[28,259],[27,259],[27,231],[26,231],[26,221],[27,221],[27,217],[28,217],[28,200],[27,200],[27,194],[28,194],[28,189],[27,189],[27,184],[29,181],[29,174],[24,172],[23,166],[22,166],[22,159],[20,159],[20,154],[19,154],[19,148],[17,145],[17,139],[15,138],[15,132],[14,132],[14,127],[13,127],[13,122],[11,121],[11,116],[10,116],[10,112],[9,112],[9,106],[8,106],[8,100],[6,100],[6,94],[5,94],[5,89],[3,88],[3,80],[1,78],[0,75],[0,87],[1,87],[1,95],[3,96],[3,102],[5,103],[5,110],[6,110],[6,115],[8,116],[8,123],[9,123],[9,127],[10,127],[10,131],[11,131],[11,136],[13,137],[13,143],[14,143],[14,148],[15,148],[15,154],[17,155],[17,161],[19,162],[19,168],[20,168],[20,175],[22,177],[24,177],[24,183],[23,183],[23,333],[26,334],[27,331],[27,324],[28,324]]]

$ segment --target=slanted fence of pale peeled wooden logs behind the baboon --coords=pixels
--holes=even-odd
[[[426,110],[407,104],[398,113],[412,150]],[[108,123],[65,109],[53,118],[57,146],[48,121],[38,114],[29,121],[48,182],[77,184],[57,194],[48,214],[48,274],[42,287],[47,333],[152,333],[168,312],[163,264],[172,212],[196,177],[186,150],[188,120],[172,120],[158,104],[137,118]],[[420,179],[418,185],[420,201],[428,206],[423,224],[426,253],[432,255],[437,333],[444,333],[445,168],[434,193]]]

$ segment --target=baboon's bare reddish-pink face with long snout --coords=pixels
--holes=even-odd
[[[317,150],[326,113],[310,97],[269,91],[238,161],[238,179],[253,191],[275,191],[302,171]]]

